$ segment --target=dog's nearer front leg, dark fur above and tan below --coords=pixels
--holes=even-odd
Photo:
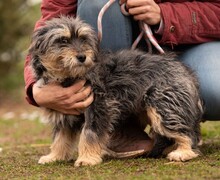
[[[75,166],[96,165],[102,162],[106,145],[109,140],[110,120],[103,109],[97,111],[92,108],[85,113],[85,125],[80,135],[78,145],[78,159]]]

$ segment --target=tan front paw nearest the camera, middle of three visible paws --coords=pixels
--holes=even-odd
[[[102,162],[102,158],[101,157],[90,157],[90,158],[85,158],[85,157],[79,157],[74,166],[75,167],[80,167],[80,166],[94,166],[97,164],[100,164]]]

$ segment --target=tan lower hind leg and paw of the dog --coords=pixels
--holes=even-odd
[[[174,141],[175,145],[172,145],[172,148],[170,148],[171,152],[168,152],[167,155],[167,158],[170,161],[187,161],[199,155],[192,149],[193,140],[187,135],[187,133],[181,133],[175,131],[175,129],[171,131],[168,130],[166,126],[162,125],[162,118],[156,112],[156,109],[148,108],[147,115],[151,120],[152,129],[156,133]]]

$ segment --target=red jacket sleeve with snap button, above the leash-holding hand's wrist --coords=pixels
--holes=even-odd
[[[159,3],[164,22],[160,44],[197,44],[220,39],[220,1]]]

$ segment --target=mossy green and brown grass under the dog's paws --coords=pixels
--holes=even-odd
[[[220,179],[220,121],[202,124],[203,155],[188,162],[136,158],[108,159],[94,167],[74,162],[39,165],[49,152],[50,128],[38,120],[0,119],[0,179]]]

